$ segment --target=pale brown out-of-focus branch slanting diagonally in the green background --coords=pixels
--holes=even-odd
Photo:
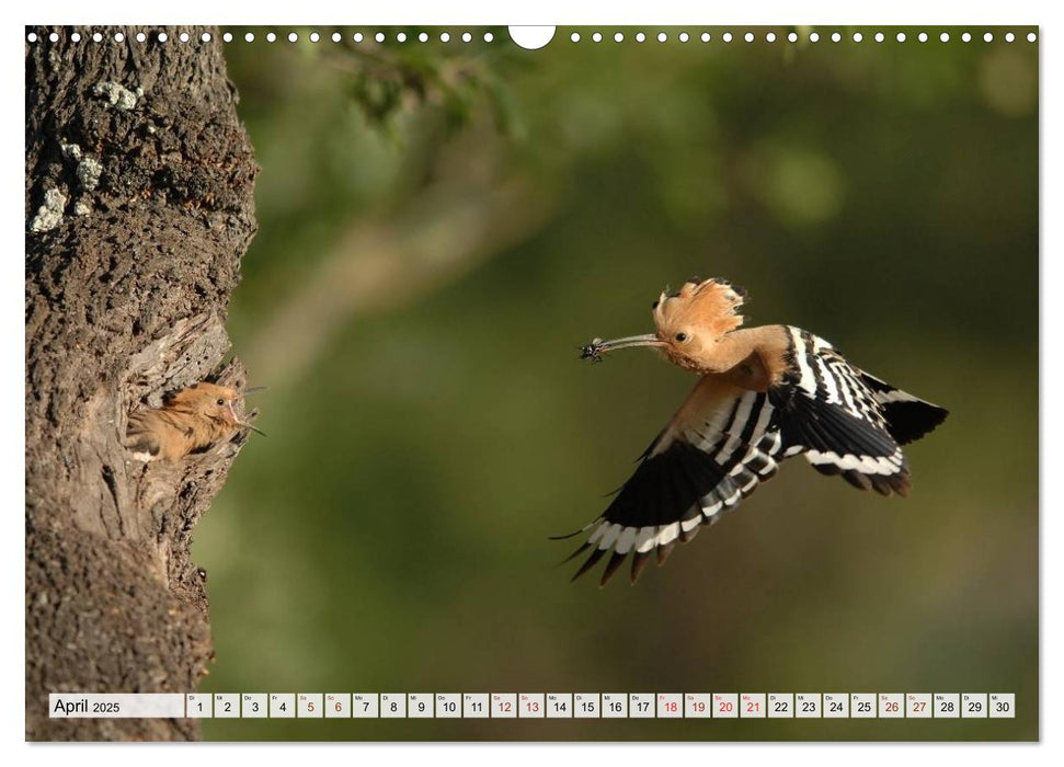
[[[462,180],[434,186],[382,221],[359,221],[271,312],[248,364],[271,387],[306,375],[337,330],[359,314],[416,301],[527,238],[551,197],[527,183]]]

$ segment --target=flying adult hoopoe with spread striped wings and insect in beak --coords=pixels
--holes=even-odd
[[[802,454],[814,469],[860,490],[905,496],[901,445],[948,411],[850,365],[830,343],[790,325],[737,330],[746,293],[723,279],[693,279],[653,305],[655,333],[595,339],[582,357],[650,346],[701,376],[606,511],[569,559],[591,549],[573,575],[611,552],[600,585],[632,556],[634,584],[651,552],[663,564],[677,541],[739,505],[778,462]],[[567,560],[568,561],[568,560]]]

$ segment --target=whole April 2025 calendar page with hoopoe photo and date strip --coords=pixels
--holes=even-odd
[[[1039,27],[24,46],[27,740],[1039,739]]]

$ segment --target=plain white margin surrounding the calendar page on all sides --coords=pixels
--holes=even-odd
[[[947,10],[948,9],[948,10]],[[1040,24],[1040,45],[1042,46],[1042,68],[1041,68],[1041,110],[1042,110],[1042,136],[1064,136],[1064,121],[1061,118],[1061,96],[1059,83],[1062,75],[1062,50],[1059,41],[1064,36],[1064,25],[1060,22],[1060,11],[1051,3],[1030,2],[1023,0],[1009,0],[1004,2],[998,0],[996,3],[969,1],[965,3],[931,3],[918,0],[893,0],[890,3],[882,2],[857,7],[851,2],[804,2],[796,3],[774,0],[770,2],[733,3],[733,4],[710,4],[707,2],[676,2],[671,0],[654,0],[639,8],[632,4],[618,2],[594,2],[576,5],[573,2],[563,0],[544,0],[529,4],[524,8],[512,8],[508,4],[499,2],[457,2],[449,3],[430,2],[428,0],[416,0],[403,2],[400,7],[397,3],[382,3],[378,8],[368,7],[367,3],[340,3],[340,2],[318,2],[314,0],[300,0],[291,3],[288,8],[270,8],[265,3],[256,3],[254,7],[237,9],[205,0],[183,0],[164,9],[158,4],[148,4],[144,0],[107,3],[106,8],[100,4],[85,2],[71,2],[70,0],[54,0],[46,5],[34,5],[30,3],[19,3],[11,10],[10,4],[2,13],[4,20],[8,16],[18,15],[21,21],[12,21],[4,24],[2,30],[13,33],[21,37],[22,26],[26,23],[55,23],[55,22],[77,22],[77,23],[138,23],[165,21],[167,23],[203,23],[210,21],[219,24],[306,24],[316,20],[329,21],[331,24],[356,21],[361,25],[385,24],[385,23],[407,23],[407,24],[782,24],[782,23],[804,23],[817,24],[832,22],[834,24],[883,24],[883,25],[950,25],[950,24],[1017,24],[1031,25]],[[7,43],[0,49],[0,61],[3,65],[4,83],[14,90],[15,83],[23,81],[23,57],[21,45],[14,45],[11,36],[3,35]],[[557,38],[556,38],[557,39]],[[24,99],[16,93],[10,93],[8,98],[9,113],[16,113],[18,110],[10,108],[13,101],[19,99],[19,103],[24,103]],[[23,649],[19,646],[18,637],[22,632],[15,627],[22,625],[24,616],[23,604],[23,575],[24,559],[22,551],[23,540],[23,515],[18,512],[24,504],[24,493],[18,491],[24,486],[18,477],[18,470],[23,470],[23,445],[19,438],[12,435],[24,434],[24,413],[21,412],[19,403],[24,400],[24,376],[21,382],[16,382],[14,375],[14,359],[22,358],[24,362],[24,322],[20,327],[16,324],[15,314],[21,314],[21,291],[18,290],[20,279],[24,281],[24,274],[20,275],[16,270],[16,253],[23,252],[23,231],[24,221],[23,210],[23,176],[24,176],[24,152],[18,151],[16,147],[23,145],[24,119],[21,124],[13,116],[8,116],[2,123],[2,147],[3,147],[3,232],[8,247],[2,251],[5,256],[2,261],[4,270],[3,279],[3,300],[0,301],[2,322],[0,322],[0,359],[5,360],[4,374],[0,377],[2,390],[0,390],[0,402],[9,404],[5,409],[0,409],[0,430],[5,435],[2,444],[2,455],[0,467],[3,471],[3,508],[7,512],[7,528],[4,535],[0,536],[0,557],[5,564],[5,577],[3,583],[3,606],[11,615],[19,618],[9,623],[10,629],[3,632],[3,650],[0,657],[4,659],[2,666],[2,679],[0,684],[5,691],[3,696],[3,734],[5,744],[21,743],[24,739],[23,728],[23,698],[21,694],[24,685],[24,655]],[[1059,435],[1064,434],[1064,419],[1062,419],[1062,408],[1057,404],[1057,388],[1060,381],[1064,380],[1064,369],[1061,367],[1061,359],[1064,359],[1064,348],[1061,339],[1064,330],[1064,301],[1056,297],[1061,295],[1062,266],[1060,259],[1064,257],[1061,245],[1061,225],[1059,217],[1064,210],[1061,195],[1062,150],[1059,148],[1059,139],[1042,142],[1042,199],[1041,199],[1041,221],[1042,230],[1042,434],[1045,437],[1041,440],[1040,459],[1044,467],[1056,467],[1060,465],[1062,450],[1060,447]],[[1045,215],[1052,211],[1051,215]],[[23,267],[24,268],[24,267]],[[1044,300],[1049,299],[1049,300]],[[1003,407],[1004,403],[1003,403]],[[991,435],[988,435],[988,439]],[[1006,763],[1019,760],[1020,763],[1042,763],[1059,764],[1064,749],[1060,744],[1064,742],[1064,734],[1061,732],[1064,725],[1064,685],[1061,684],[1060,661],[1061,649],[1064,648],[1061,638],[1061,573],[1064,565],[1059,554],[1061,550],[1061,525],[1060,515],[1064,514],[1064,492],[1060,490],[1056,482],[1041,483],[1041,507],[1042,514],[1042,586],[1041,586],[1041,646],[1042,652],[1042,686],[1041,686],[1041,746],[1030,745],[987,745],[987,744],[949,744],[949,745],[911,745],[911,746],[877,746],[874,744],[840,744],[840,745],[779,745],[779,744],[728,744],[728,745],[649,745],[639,747],[637,752],[629,752],[628,745],[596,745],[594,753],[588,753],[586,746],[574,745],[550,745],[537,744],[534,747],[507,745],[446,745],[437,747],[426,747],[416,744],[401,745],[363,745],[357,752],[342,752],[344,745],[329,746],[308,746],[293,745],[282,751],[268,745],[244,745],[240,751],[253,752],[255,756],[270,759],[284,758],[289,760],[294,757],[299,758],[342,758],[350,759],[368,757],[370,759],[444,759],[449,762],[453,757],[460,759],[464,764],[492,764],[497,765],[505,760],[507,765],[539,765],[542,759],[556,759],[560,755],[565,757],[586,759],[641,759],[641,758],[675,758],[678,760],[687,758],[713,758],[720,760],[744,760],[759,758],[790,758],[787,752],[801,749],[802,756],[819,764],[846,764],[853,765],[894,765],[899,759],[914,762],[915,764],[930,763],[943,758],[956,758],[960,754],[946,754],[945,749],[963,752],[962,758],[971,765],[994,765],[995,767]],[[22,497],[19,497],[22,496]],[[1055,597],[1055,599],[1054,599]],[[1054,649],[1055,648],[1055,652]],[[150,754],[145,748],[150,748]],[[712,747],[712,754],[706,748]],[[85,758],[88,748],[95,748],[99,758],[106,759],[108,764],[127,764],[136,760],[137,763],[150,758],[160,765],[184,765],[192,754],[181,748],[165,746],[41,746],[28,747],[22,745],[19,754],[23,759],[33,762],[34,765],[69,764],[71,759]],[[430,753],[432,748],[433,753]],[[304,751],[307,749],[307,753]],[[1052,756],[1056,754],[1056,756]],[[218,759],[230,760],[237,756],[234,747],[206,744],[197,746],[195,757],[197,762],[208,757],[208,763]],[[241,758],[243,755],[241,754]]]

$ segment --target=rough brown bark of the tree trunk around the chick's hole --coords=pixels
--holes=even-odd
[[[170,389],[243,384],[225,320],[258,168],[217,31],[75,31],[26,30],[26,737],[194,739],[49,719],[48,694],[192,691],[211,659],[190,547],[242,438],[148,465],[122,438]]]

